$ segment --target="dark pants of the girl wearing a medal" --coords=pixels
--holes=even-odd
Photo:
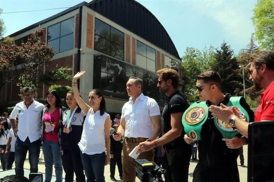
[[[77,182],[85,182],[84,167],[81,160],[81,153],[78,146],[70,147],[69,149],[62,149],[62,163],[63,169],[66,173],[65,182],[72,182],[74,172]]]

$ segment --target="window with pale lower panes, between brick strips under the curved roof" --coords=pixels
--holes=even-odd
[[[148,69],[155,73],[156,71],[156,51],[146,44],[137,40],[136,45],[136,65]]]

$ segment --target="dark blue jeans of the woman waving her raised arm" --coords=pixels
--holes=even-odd
[[[81,159],[88,182],[104,182],[106,153],[88,155],[81,152]]]

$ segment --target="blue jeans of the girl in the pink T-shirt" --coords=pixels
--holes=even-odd
[[[63,181],[63,166],[59,143],[43,139],[43,154],[45,159],[45,182],[50,182],[54,161],[56,182]]]

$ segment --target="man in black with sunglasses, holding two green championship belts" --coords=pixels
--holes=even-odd
[[[202,102],[206,102],[207,107],[220,106],[221,103],[226,105],[233,97],[231,94],[221,92],[221,77],[215,71],[205,71],[198,75],[196,87],[196,93]],[[247,112],[249,122],[254,121],[254,113],[243,97],[240,98],[239,104]],[[214,122],[214,117],[209,112],[200,133],[201,140],[198,142],[200,155],[193,173],[193,182],[239,182],[237,158],[239,147],[247,144],[246,138],[241,138],[239,134],[232,139],[224,138]],[[184,139],[188,144],[193,142],[187,135]]]

